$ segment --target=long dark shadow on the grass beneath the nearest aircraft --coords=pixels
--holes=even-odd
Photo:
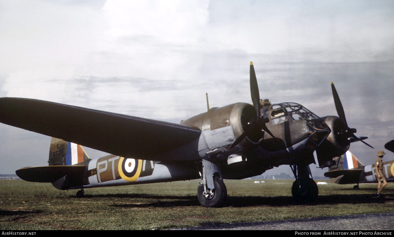
[[[127,204],[114,204],[113,207],[176,207],[176,206],[199,206],[195,196],[162,196],[152,194],[106,194],[106,195],[86,195],[84,198],[138,198],[138,201],[130,200]],[[141,200],[146,198],[147,200]],[[336,194],[318,196],[316,202],[298,203],[289,196],[229,196],[227,197],[226,206],[229,207],[249,207],[249,206],[286,206],[286,205],[325,205],[339,203],[385,203],[393,202],[394,198],[375,198],[372,194]]]

